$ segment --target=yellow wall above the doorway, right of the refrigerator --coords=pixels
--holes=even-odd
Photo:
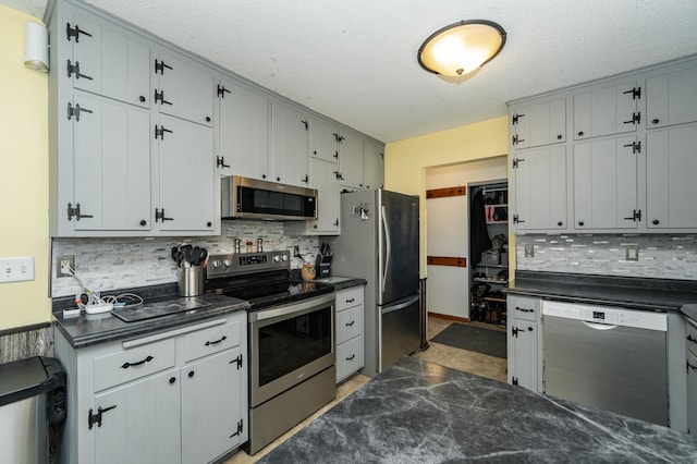
[[[492,158],[508,152],[506,117],[388,144],[384,152],[384,187],[419,195],[421,199],[421,277],[426,277],[426,169]]]

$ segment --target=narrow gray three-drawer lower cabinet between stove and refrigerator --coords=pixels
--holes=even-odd
[[[337,292],[337,383],[365,365],[363,285]]]

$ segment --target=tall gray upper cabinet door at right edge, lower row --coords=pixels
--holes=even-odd
[[[697,126],[651,131],[646,136],[646,227],[697,228]]]

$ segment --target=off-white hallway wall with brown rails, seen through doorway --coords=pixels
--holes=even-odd
[[[426,171],[426,188],[477,185],[506,179],[506,158],[470,161]],[[426,199],[426,255],[469,255],[469,196]],[[429,313],[469,317],[469,267],[428,266],[426,307]]]

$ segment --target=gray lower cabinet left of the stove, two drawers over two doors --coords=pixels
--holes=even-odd
[[[247,441],[246,313],[73,349],[65,463],[208,463]]]

